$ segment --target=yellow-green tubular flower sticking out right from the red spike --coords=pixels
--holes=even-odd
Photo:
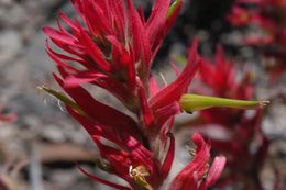
[[[184,94],[179,100],[180,108],[186,112],[205,110],[213,107],[252,110],[270,104],[270,101],[245,101],[199,94]]]

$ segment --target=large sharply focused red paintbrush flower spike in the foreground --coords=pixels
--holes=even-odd
[[[90,134],[102,158],[98,164],[100,168],[117,175],[128,185],[118,185],[92,176],[82,168],[80,170],[116,189],[158,189],[168,176],[174,159],[175,139],[170,130],[175,114],[180,112],[178,101],[200,64],[195,42],[187,66],[174,82],[160,88],[152,76],[153,59],[177,18],[183,1],[176,0],[170,4],[170,0],[155,0],[147,19],[134,8],[131,0],[125,3],[123,0],[72,2],[84,25],[61,13],[69,31],[61,21],[58,29],[43,29],[50,40],[65,52],[54,52],[47,41],[46,52],[59,71],[59,75],[54,74],[54,78],[70,98],[45,87],[43,89],[62,100],[68,112]],[[82,87],[86,83],[106,89],[133,116],[97,100]],[[209,145],[202,146],[201,138],[198,142],[197,155],[208,154]],[[204,161],[208,159],[209,156]],[[193,163],[195,166],[190,167],[190,172],[209,171],[206,187],[218,178],[218,171],[224,165],[224,160],[219,159],[215,161],[213,169],[202,169],[198,168],[201,165],[199,158]],[[179,177],[176,178],[174,183],[179,180]]]

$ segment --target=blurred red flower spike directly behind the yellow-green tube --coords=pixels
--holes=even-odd
[[[200,81],[211,96],[234,99],[250,99],[254,88],[250,82],[249,74],[238,79],[238,70],[234,68],[219,48],[215,64],[202,62],[199,69]],[[206,75],[208,74],[208,75]],[[227,133],[227,137],[218,138],[210,134],[212,149],[223,153],[228,158],[229,175],[224,176],[223,186],[241,187],[244,190],[262,189],[258,175],[267,153],[270,141],[262,132],[262,110],[253,110],[250,114],[245,110],[230,110],[215,108],[200,112],[202,126],[208,131],[216,127]],[[207,133],[208,134],[208,133]],[[255,145],[256,150],[251,147]],[[250,174],[250,175],[245,175]]]

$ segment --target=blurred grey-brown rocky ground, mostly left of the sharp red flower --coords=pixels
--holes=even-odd
[[[65,0],[0,0],[0,104],[4,112],[18,114],[15,122],[0,124],[0,178],[11,190],[100,189],[74,166],[79,161],[92,169],[97,153],[87,133],[58,101],[37,90],[43,83],[56,88],[41,27],[55,24],[58,9],[73,15],[67,4]],[[184,45],[176,43],[170,49]],[[280,93],[284,81],[271,89],[262,82],[260,94]],[[276,139],[270,154],[279,154],[275,161],[282,163],[286,154],[283,101],[270,107],[264,121],[265,131]]]

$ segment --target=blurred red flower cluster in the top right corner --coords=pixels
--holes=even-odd
[[[270,64],[272,77],[277,78],[286,69],[286,1],[285,0],[235,0],[229,21],[235,26],[256,25],[262,32],[246,36],[246,44],[261,48],[274,58]]]

